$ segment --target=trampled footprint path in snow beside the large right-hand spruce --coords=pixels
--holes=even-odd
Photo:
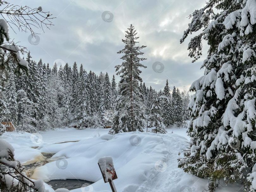
[[[175,136],[174,136],[175,135]],[[178,168],[177,159],[180,151],[186,146],[186,141],[178,139],[178,135],[174,134],[161,135],[164,144],[168,148],[166,168],[158,171],[156,175],[146,181],[137,192],[208,192],[207,178],[199,178],[192,174],[185,173],[181,168]],[[176,137],[177,136],[177,137]],[[242,192],[243,187],[239,183],[226,186],[223,182],[220,183],[216,192]]]

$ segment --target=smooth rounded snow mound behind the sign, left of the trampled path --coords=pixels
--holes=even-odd
[[[136,189],[159,172],[155,168],[157,162],[167,160],[169,152],[160,135],[162,134],[130,132],[112,135],[113,139],[110,140],[106,138],[109,139],[111,136],[104,135],[73,143],[52,156],[56,161],[36,168],[31,178],[40,178],[44,181],[99,181],[92,186],[95,191],[101,191],[106,189],[106,185],[98,166],[98,159],[111,156],[118,176],[118,179],[114,180],[118,190],[122,191],[128,186]],[[136,141],[133,141],[134,139]],[[181,138],[175,140],[177,139],[184,142]],[[173,144],[175,146],[175,141]]]

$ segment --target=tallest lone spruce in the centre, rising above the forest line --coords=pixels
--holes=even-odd
[[[145,112],[142,103],[142,95],[139,91],[139,84],[142,79],[139,76],[141,70],[139,67],[146,68],[140,61],[145,58],[138,56],[143,55],[140,50],[144,45],[136,46],[136,30],[130,25],[125,34],[125,48],[118,53],[124,53],[121,57],[124,62],[121,65],[115,66],[117,75],[120,75],[119,81],[119,95],[116,99],[115,114],[113,117],[113,126],[109,134],[116,134],[120,132],[143,131],[143,119],[145,119]]]

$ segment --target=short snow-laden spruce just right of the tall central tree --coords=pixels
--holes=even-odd
[[[167,133],[162,118],[161,99],[161,97],[158,97],[155,94],[155,99],[149,111],[149,122],[150,127],[153,127],[153,129],[151,130],[153,133]]]

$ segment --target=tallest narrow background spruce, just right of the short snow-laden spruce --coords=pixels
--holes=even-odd
[[[163,123],[165,126],[172,125],[172,116],[173,116],[173,111],[172,111],[172,102],[171,102],[171,93],[170,93],[170,87],[168,80],[166,80],[166,85],[163,90],[163,95],[165,97],[168,97],[169,101],[167,99],[162,99],[163,102],[163,107],[162,107],[162,118],[163,118]]]

